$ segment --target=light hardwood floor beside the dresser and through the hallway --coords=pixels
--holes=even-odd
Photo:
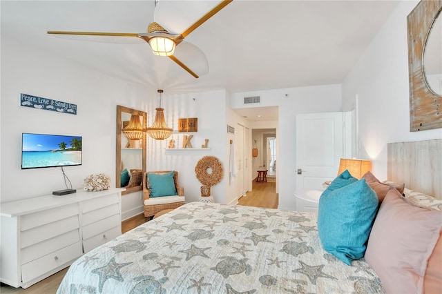
[[[267,182],[267,183],[256,183],[253,181],[253,190],[248,192],[246,196],[238,199],[238,205],[244,206],[257,206],[257,207],[265,207],[265,208],[277,208],[278,207],[278,194],[275,193],[276,183]],[[122,222],[122,232],[126,233],[130,231],[132,228],[140,226],[144,222],[148,222],[149,218],[144,217],[144,215],[137,215],[132,217],[131,219],[127,219]],[[64,275],[68,271],[68,268],[65,268],[50,277],[47,277],[45,280],[38,282],[30,286],[29,288],[14,288],[8,286],[6,284],[1,284],[0,293],[1,294],[10,294],[10,293],[21,293],[21,294],[51,294],[56,293],[61,280],[63,280]]]

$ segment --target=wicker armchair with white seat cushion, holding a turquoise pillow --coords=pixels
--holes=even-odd
[[[170,173],[172,170],[160,170],[151,171],[148,173]],[[150,197],[151,191],[148,189],[148,177],[147,174],[143,175],[143,204],[144,204],[144,217],[153,217],[156,213],[159,213],[164,209],[174,209],[180,207],[184,204],[184,188],[178,184],[178,172],[175,170],[173,175],[173,182],[177,190],[177,195],[174,196],[163,196],[163,197]]]

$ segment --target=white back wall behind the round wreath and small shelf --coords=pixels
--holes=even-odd
[[[182,136],[193,135],[191,139],[193,148],[201,148],[204,139],[209,139],[208,150],[166,150],[167,142],[147,141],[147,170],[177,170],[180,173],[179,182],[184,187],[186,202],[198,201],[201,196],[202,184],[195,175],[195,166],[198,161],[206,156],[217,157],[222,163],[224,177],[219,184],[211,187],[211,196],[218,203],[227,203],[226,186],[228,183],[229,161],[226,150],[229,146],[227,140],[226,99],[224,90],[188,93],[182,95],[167,95],[164,92],[162,107],[169,128],[174,132],[171,138],[175,139],[177,147],[182,148]],[[157,101],[153,101],[148,109],[148,125],[151,125],[155,116]],[[179,118],[198,118],[198,132],[177,133]]]

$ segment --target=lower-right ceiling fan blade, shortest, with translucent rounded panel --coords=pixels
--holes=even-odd
[[[207,61],[206,55],[204,55],[204,52],[202,52],[200,48],[191,43],[181,42],[169,58],[196,79],[209,72],[209,62]]]

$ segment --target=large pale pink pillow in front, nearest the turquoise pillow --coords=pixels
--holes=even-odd
[[[441,210],[414,206],[398,190],[388,190],[365,252],[387,293],[422,293],[427,262],[441,230]]]

